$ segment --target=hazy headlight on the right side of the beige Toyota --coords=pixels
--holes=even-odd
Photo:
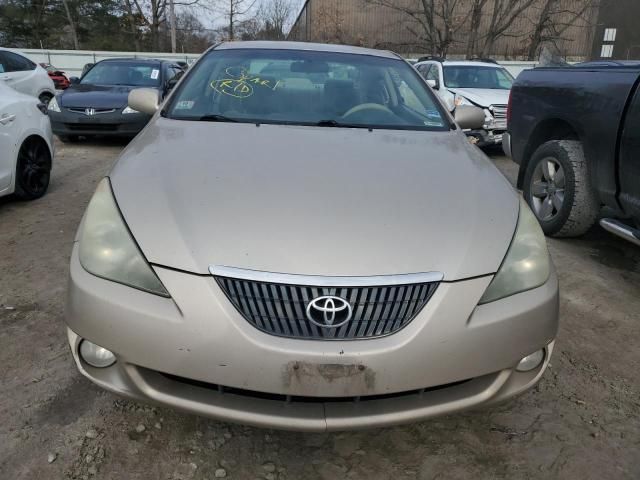
[[[516,233],[479,303],[489,303],[544,284],[551,271],[547,242],[537,218],[520,198]]]

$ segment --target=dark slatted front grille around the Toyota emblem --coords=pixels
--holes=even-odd
[[[215,279],[240,314],[259,330],[280,337],[323,340],[374,338],[397,332],[420,313],[439,284],[326,287],[222,276]],[[335,327],[310,321],[309,303],[324,296],[348,302],[350,320]]]

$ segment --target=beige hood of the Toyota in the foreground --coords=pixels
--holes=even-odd
[[[111,174],[149,262],[370,276],[496,272],[517,194],[459,131],[158,117]]]

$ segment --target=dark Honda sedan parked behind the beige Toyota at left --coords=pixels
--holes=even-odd
[[[79,136],[134,137],[151,116],[127,106],[134,88],[156,88],[164,97],[184,70],[175,62],[110,59],[96,63],[49,103],[51,127],[63,142]]]

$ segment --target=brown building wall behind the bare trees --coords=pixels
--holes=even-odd
[[[396,5],[415,6],[419,0],[396,0]],[[489,29],[492,2],[485,7],[480,22],[480,42]],[[590,0],[580,0],[590,1]],[[617,0],[613,0],[617,1]],[[624,0],[627,1],[627,0]],[[640,4],[640,0],[636,1]],[[546,0],[536,0],[520,15],[507,31],[499,38],[488,55],[504,59],[526,59],[530,39],[536,20]],[[578,0],[560,0],[558,10],[575,9]],[[463,57],[467,52],[469,37],[469,12],[471,0],[460,0],[454,11],[454,39],[447,55]],[[564,14],[556,18],[558,24],[568,23],[571,16]],[[566,28],[559,38],[554,40],[559,53],[568,60],[582,60],[589,56],[593,43],[593,26],[597,9],[589,9],[584,18]],[[400,53],[431,53],[429,45],[420,39],[421,26],[404,13],[397,10],[373,5],[366,0],[307,0],[298,20],[291,29],[289,38],[300,41],[348,43],[373,48],[388,48]]]

